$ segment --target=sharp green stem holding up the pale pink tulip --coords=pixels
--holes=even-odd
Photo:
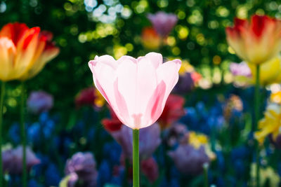
[[[139,130],[133,130],[133,187],[140,186],[140,158],[138,154]]]

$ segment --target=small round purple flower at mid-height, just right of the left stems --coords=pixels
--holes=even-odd
[[[53,96],[44,91],[31,92],[27,99],[27,109],[34,114],[49,111],[51,108],[53,108]]]

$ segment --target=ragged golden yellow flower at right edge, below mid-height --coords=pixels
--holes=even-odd
[[[275,140],[281,130],[281,105],[269,104],[264,113],[264,118],[259,121],[259,131],[255,132],[254,136],[263,144],[264,139],[269,135],[273,135]]]

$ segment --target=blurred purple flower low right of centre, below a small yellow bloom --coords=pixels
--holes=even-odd
[[[209,157],[203,146],[195,148],[189,144],[181,144],[176,151],[169,151],[168,155],[174,160],[178,171],[183,174],[200,174],[204,163],[209,163]]]

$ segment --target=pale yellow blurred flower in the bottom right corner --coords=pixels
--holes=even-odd
[[[278,174],[273,170],[272,167],[260,168],[259,169],[259,176],[261,186],[263,186],[266,181],[269,179],[269,186],[278,186],[280,182],[280,177]],[[256,185],[256,163],[251,164],[251,180],[254,182],[254,186]]]

